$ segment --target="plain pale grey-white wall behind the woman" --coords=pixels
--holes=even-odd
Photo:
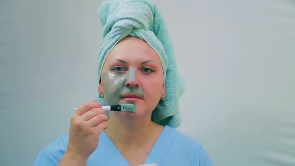
[[[154,0],[215,166],[295,165],[295,1]],[[0,1],[0,166],[30,166],[97,97],[101,0]]]

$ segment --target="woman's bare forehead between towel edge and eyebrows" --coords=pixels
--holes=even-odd
[[[138,60],[153,60],[160,62],[160,58],[155,50],[148,45],[145,41],[136,37],[127,37],[121,40],[110,51],[107,56],[106,62],[114,58],[118,59],[138,59]],[[160,62],[161,64],[161,62]]]

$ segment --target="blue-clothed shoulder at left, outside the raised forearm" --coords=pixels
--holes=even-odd
[[[63,135],[49,143],[38,154],[34,166],[53,166],[57,165],[66,152],[69,135]]]

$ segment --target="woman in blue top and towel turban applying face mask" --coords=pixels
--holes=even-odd
[[[184,82],[156,6],[146,0],[111,0],[99,17],[104,40],[98,56],[98,101],[131,103],[136,113],[110,111],[96,100],[71,118],[69,136],[53,141],[34,165],[212,166],[197,141],[174,129]]]

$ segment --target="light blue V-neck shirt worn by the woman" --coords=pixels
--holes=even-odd
[[[33,166],[57,166],[66,152],[69,135],[64,135],[45,147]],[[178,130],[165,126],[144,164],[157,166],[213,166],[201,145]],[[87,166],[129,166],[105,132],[101,132],[97,149]]]

